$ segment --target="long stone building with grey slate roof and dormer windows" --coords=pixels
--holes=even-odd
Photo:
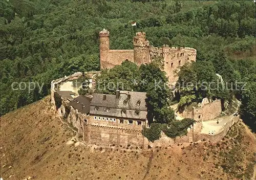
[[[142,146],[147,126],[146,93],[116,91],[116,95],[94,94],[90,116],[83,124],[83,138],[101,146]]]

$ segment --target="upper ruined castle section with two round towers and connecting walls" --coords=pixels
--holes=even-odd
[[[137,32],[133,38],[133,50],[111,50],[110,32],[103,29],[99,32],[100,49],[100,68],[111,69],[115,65],[120,65],[122,61],[129,60],[137,65],[150,63],[154,58],[163,58],[163,71],[170,84],[174,84],[178,77],[176,72],[186,62],[196,61],[197,50],[193,48],[168,47],[163,45],[161,48],[153,47],[146,39],[145,32]]]

